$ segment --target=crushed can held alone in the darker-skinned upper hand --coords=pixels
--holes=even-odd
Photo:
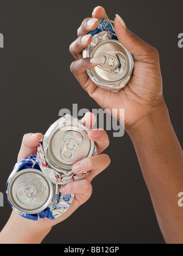
[[[83,50],[83,57],[101,57],[102,63],[87,70],[96,85],[119,92],[131,80],[134,56],[118,41],[113,21],[99,20],[98,27],[89,32],[92,42]]]

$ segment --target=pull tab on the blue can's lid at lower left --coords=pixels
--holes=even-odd
[[[24,188],[27,197],[34,197],[40,194],[44,189],[43,184],[39,180],[35,180]]]

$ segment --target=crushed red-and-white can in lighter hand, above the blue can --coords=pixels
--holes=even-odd
[[[62,186],[88,175],[90,170],[81,175],[72,171],[74,163],[98,153],[87,134],[84,124],[71,115],[61,117],[48,129],[38,144],[37,158],[52,183]]]

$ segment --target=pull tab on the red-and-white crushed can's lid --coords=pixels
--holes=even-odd
[[[77,131],[66,131],[65,134],[63,134],[63,141],[65,144],[61,149],[61,157],[65,161],[73,161],[78,153],[77,148],[83,142],[83,137]]]

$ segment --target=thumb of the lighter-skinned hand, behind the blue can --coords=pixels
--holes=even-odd
[[[35,148],[41,137],[43,137],[43,134],[41,133],[27,133],[24,135],[20,152],[18,153],[18,161],[27,156],[35,155]]]

